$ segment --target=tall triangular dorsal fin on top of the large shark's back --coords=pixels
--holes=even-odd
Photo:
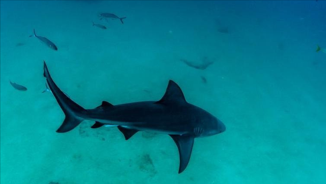
[[[186,102],[181,88],[172,80],[169,81],[169,85],[164,96],[155,103],[169,102]]]

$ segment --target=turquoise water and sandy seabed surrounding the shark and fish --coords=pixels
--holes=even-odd
[[[326,182],[326,53],[316,52],[326,47],[326,1],[0,7],[1,183]],[[99,13],[127,18],[105,21]],[[58,50],[29,37],[33,29]],[[102,100],[159,100],[174,80],[226,132],[196,139],[181,174],[167,135],[140,132],[125,141],[117,128],[90,128],[92,121],[58,134],[64,113],[50,92],[42,93],[43,60],[86,109]]]

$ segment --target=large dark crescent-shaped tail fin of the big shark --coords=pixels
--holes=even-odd
[[[84,120],[84,115],[87,111],[80,107],[77,103],[72,101],[64,92],[62,92],[59,87],[53,82],[51,75],[47,69],[47,66],[44,61],[44,73],[46,81],[53,95],[55,96],[59,106],[62,111],[65,113],[66,118],[63,121],[62,125],[57,130],[57,133],[69,132],[75,128],[80,122]]]

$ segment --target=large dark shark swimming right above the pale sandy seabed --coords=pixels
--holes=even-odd
[[[164,96],[157,101],[139,101],[113,105],[102,101],[94,109],[84,109],[71,100],[52,80],[44,61],[44,77],[65,114],[57,133],[67,133],[84,120],[95,121],[92,128],[117,126],[125,140],[140,131],[169,135],[179,152],[179,171],[187,167],[195,138],[225,132],[225,124],[207,111],[185,100],[181,88],[169,81]]]

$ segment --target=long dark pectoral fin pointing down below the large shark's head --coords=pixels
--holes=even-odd
[[[194,137],[190,135],[170,135],[175,144],[178,146],[180,165],[179,174],[187,167],[192,154]]]

